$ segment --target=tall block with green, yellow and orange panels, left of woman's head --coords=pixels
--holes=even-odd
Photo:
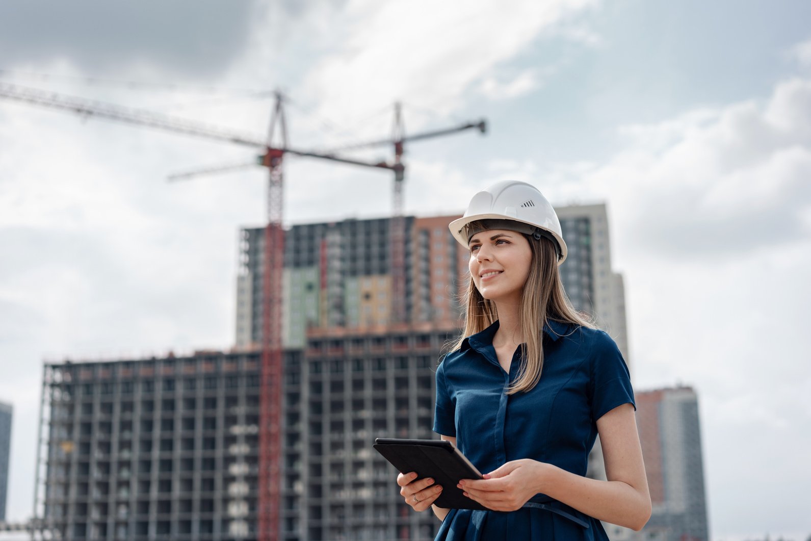
[[[466,251],[448,231],[452,219],[405,217],[408,322],[458,324],[459,281],[466,268]],[[388,218],[351,219],[293,225],[285,232],[285,347],[302,347],[308,328],[380,332],[393,323],[390,225]],[[263,255],[264,229],[243,229],[237,347],[261,343]]]

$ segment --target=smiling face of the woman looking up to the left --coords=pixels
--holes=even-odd
[[[468,268],[478,292],[496,303],[521,303],[532,262],[526,237],[510,230],[487,230],[474,234],[468,248]]]

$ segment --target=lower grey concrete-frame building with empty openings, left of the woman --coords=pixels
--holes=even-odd
[[[433,539],[375,437],[430,438],[455,329],[311,333],[285,351],[279,537]],[[256,539],[260,352],[45,365],[38,516],[56,539]]]

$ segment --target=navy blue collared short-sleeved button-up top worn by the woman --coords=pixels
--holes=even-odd
[[[601,330],[549,321],[543,329],[538,384],[526,393],[507,394],[521,368],[521,348],[513,354],[507,373],[492,345],[498,328],[496,321],[467,337],[459,350],[440,363],[434,431],[456,436],[458,448],[482,473],[504,462],[531,458],[585,475],[597,419],[616,406],[634,404],[628,367],[616,343]],[[529,513],[526,509],[514,513],[525,511]],[[465,517],[470,518],[467,510],[448,516],[453,522],[466,521]],[[599,539],[604,535],[602,526],[591,520],[594,528],[589,535]],[[442,539],[457,539],[453,530],[458,531],[461,524],[455,526],[448,531],[444,524],[440,533],[451,536]]]

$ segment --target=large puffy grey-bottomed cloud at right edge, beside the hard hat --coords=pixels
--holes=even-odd
[[[669,259],[719,260],[794,243],[811,234],[809,114],[811,80],[789,79],[764,103],[624,127],[627,148],[591,171],[578,170],[578,181],[553,194],[611,200],[634,242]],[[553,170],[552,178],[577,178],[569,167]]]

